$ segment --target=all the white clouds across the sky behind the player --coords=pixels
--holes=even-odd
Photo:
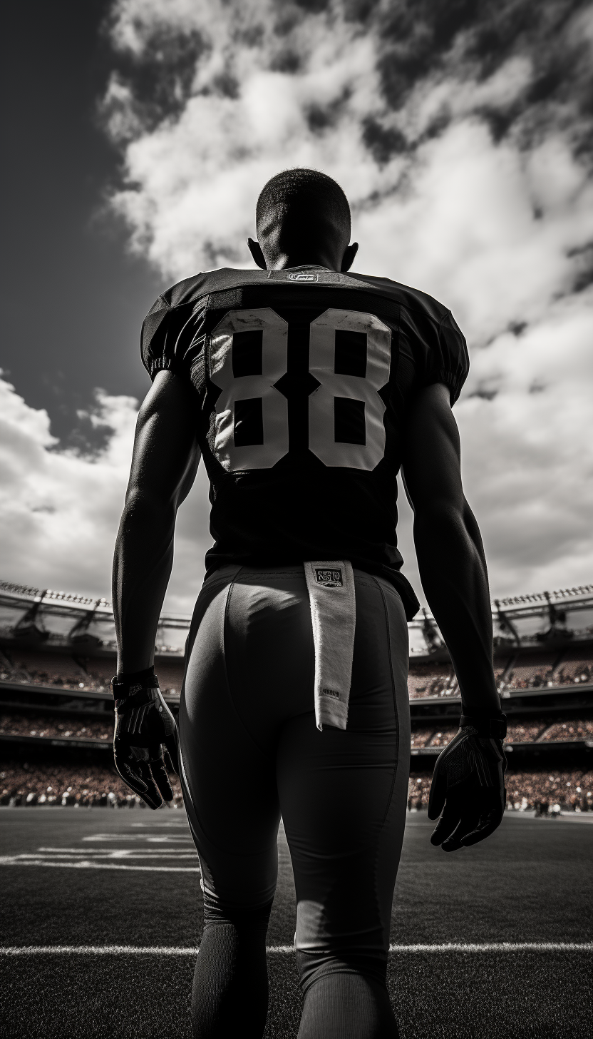
[[[172,282],[250,266],[280,168],[346,189],[357,269],[430,292],[467,335],[456,406],[495,593],[591,580],[593,8],[546,0],[118,0],[102,102],[110,205]],[[136,403],[100,394],[92,457],[7,383],[7,578],[108,594]],[[111,432],[110,432],[111,430]],[[420,587],[402,503],[406,570]],[[169,609],[203,572],[206,481],[180,515]]]

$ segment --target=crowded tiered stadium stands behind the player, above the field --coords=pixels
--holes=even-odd
[[[409,624],[412,772],[426,810],[432,766],[461,700],[427,611]],[[593,586],[493,603],[494,670],[508,718],[509,807],[593,810]],[[156,666],[178,709],[187,617],[164,616]],[[90,600],[0,582],[0,803],[136,807],[111,757],[113,614]],[[176,804],[182,803],[173,780]]]

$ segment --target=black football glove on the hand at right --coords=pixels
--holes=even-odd
[[[490,836],[501,825],[507,802],[505,715],[461,717],[459,731],[436,760],[428,818],[437,819],[430,843],[457,851]],[[442,812],[442,815],[440,815]]]

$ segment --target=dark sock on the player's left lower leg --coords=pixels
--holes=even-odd
[[[270,907],[206,923],[193,976],[194,1039],[261,1039],[268,1015]]]

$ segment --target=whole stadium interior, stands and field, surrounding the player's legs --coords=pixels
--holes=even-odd
[[[189,1039],[199,865],[179,779],[172,806],[152,812],[114,770],[110,606],[4,583],[0,610],[2,1034]],[[426,808],[461,702],[433,618],[409,624],[411,773],[387,966],[402,1039],[588,1034],[593,586],[492,611],[508,810],[487,842],[453,856],[431,847]],[[158,632],[173,712],[188,623],[163,616]],[[280,826],[266,1039],[299,1028],[295,915]]]

